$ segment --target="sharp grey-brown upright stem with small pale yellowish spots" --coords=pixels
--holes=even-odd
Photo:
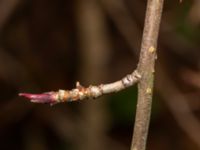
[[[154,65],[164,0],[148,0],[138,71],[138,103],[131,150],[145,150],[151,115]]]

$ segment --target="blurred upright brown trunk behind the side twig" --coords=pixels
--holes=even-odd
[[[107,77],[107,64],[110,60],[111,45],[106,18],[97,0],[78,0],[76,8],[81,60],[80,80],[85,84],[99,83]],[[99,102],[87,101],[81,104],[78,119],[80,130],[75,149],[102,150],[107,147],[109,114],[106,103],[106,97],[102,97]]]

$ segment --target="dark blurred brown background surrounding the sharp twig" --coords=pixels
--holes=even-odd
[[[128,150],[137,88],[33,104],[42,93],[113,82],[137,66],[146,0],[0,1],[0,149]],[[147,150],[200,150],[200,1],[166,0]]]

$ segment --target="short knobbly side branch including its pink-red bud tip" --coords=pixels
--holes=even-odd
[[[26,97],[34,103],[56,104],[71,102],[88,98],[97,98],[104,94],[121,91],[136,84],[140,78],[140,74],[135,70],[132,74],[125,76],[121,80],[109,84],[83,87],[77,82],[76,88],[72,90],[59,90],[57,92],[46,92],[42,94],[20,93],[19,96]]]

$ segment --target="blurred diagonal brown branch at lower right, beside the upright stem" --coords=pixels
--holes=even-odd
[[[200,122],[191,112],[186,97],[170,81],[166,71],[162,68],[161,66],[158,68],[157,90],[163,97],[178,125],[200,148]]]

